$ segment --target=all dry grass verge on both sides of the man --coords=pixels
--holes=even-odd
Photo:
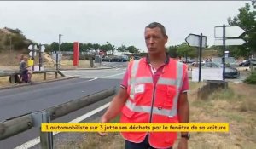
[[[212,93],[208,99],[199,100],[195,89],[201,84],[190,84],[193,88],[189,92],[190,122],[230,123],[230,132],[191,133],[189,149],[254,149],[256,146],[256,113],[255,108],[249,106],[256,104],[256,86],[229,83],[229,89],[219,90]],[[241,107],[246,110],[241,112]],[[124,142],[125,140],[119,133],[108,133],[105,137],[96,133],[87,133],[84,140],[79,140],[76,144],[70,144],[64,148],[121,149],[124,148]],[[177,148],[177,142],[174,148]]]

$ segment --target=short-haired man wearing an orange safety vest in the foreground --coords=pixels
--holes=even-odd
[[[119,93],[101,118],[108,123],[121,112],[120,123],[189,123],[187,66],[166,54],[168,36],[160,23],[145,27],[148,55],[129,63]],[[100,135],[106,135],[100,133]],[[125,149],[172,148],[176,132],[122,132]],[[178,149],[188,148],[182,132]]]

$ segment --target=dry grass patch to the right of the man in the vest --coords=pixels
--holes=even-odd
[[[256,86],[244,83],[229,83],[229,86],[229,89],[212,93],[207,100],[193,101],[190,119],[192,122],[230,123],[230,132],[193,133],[190,148],[253,149],[256,146],[256,99],[252,98],[256,96]]]

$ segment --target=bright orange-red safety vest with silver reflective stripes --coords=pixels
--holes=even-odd
[[[178,123],[177,100],[186,73],[186,65],[169,60],[155,87],[146,58],[128,66],[129,95],[120,123]],[[146,135],[150,146],[167,148],[177,140],[176,132],[122,132],[125,140],[140,143]]]

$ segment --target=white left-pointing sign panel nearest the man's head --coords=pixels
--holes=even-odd
[[[200,35],[195,34],[189,34],[188,37],[186,37],[185,41],[189,44],[190,47],[200,47]],[[207,37],[202,36],[202,48],[207,47]]]

